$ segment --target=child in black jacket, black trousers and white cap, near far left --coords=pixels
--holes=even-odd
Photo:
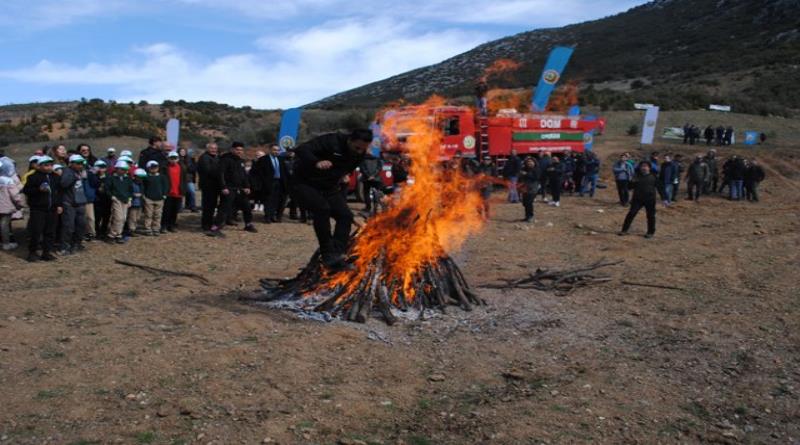
[[[51,252],[56,238],[58,215],[62,212],[57,193],[59,180],[53,174],[53,158],[42,156],[37,161],[36,172],[28,177],[22,189],[31,210],[28,218],[28,261],[56,259]],[[36,252],[39,249],[42,253],[37,257]]]

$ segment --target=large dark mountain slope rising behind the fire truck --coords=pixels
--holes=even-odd
[[[664,109],[726,103],[739,112],[789,116],[800,109],[797,23],[796,0],[656,0],[600,20],[495,40],[310,106],[469,95],[483,70],[502,58],[521,66],[493,86],[530,89],[550,48],[567,45],[575,53],[564,80],[578,83],[582,100],[603,109],[631,109],[634,101]]]

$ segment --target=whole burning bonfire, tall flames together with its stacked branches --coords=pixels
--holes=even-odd
[[[439,105],[434,98],[384,122],[384,137],[411,157],[413,182],[352,237],[349,267],[328,271],[316,252],[295,278],[262,280],[263,300],[357,322],[377,314],[389,324],[401,314],[483,304],[450,257],[481,229],[482,204],[476,178],[439,162],[441,132],[429,113]]]

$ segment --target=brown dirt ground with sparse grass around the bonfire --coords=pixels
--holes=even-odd
[[[598,148],[607,181],[623,147]],[[184,214],[177,234],[56,263],[0,254],[0,443],[800,443],[800,159],[756,155],[761,203],[681,195],[652,240],[644,214],[616,236],[613,185],[537,202],[534,225],[498,192],[455,255],[474,287],[625,262],[566,296],[478,289],[484,308],[394,327],[238,300],[307,261],[311,227],[294,222],[217,240]]]

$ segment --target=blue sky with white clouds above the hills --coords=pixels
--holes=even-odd
[[[641,0],[2,0],[0,104],[288,108]]]

